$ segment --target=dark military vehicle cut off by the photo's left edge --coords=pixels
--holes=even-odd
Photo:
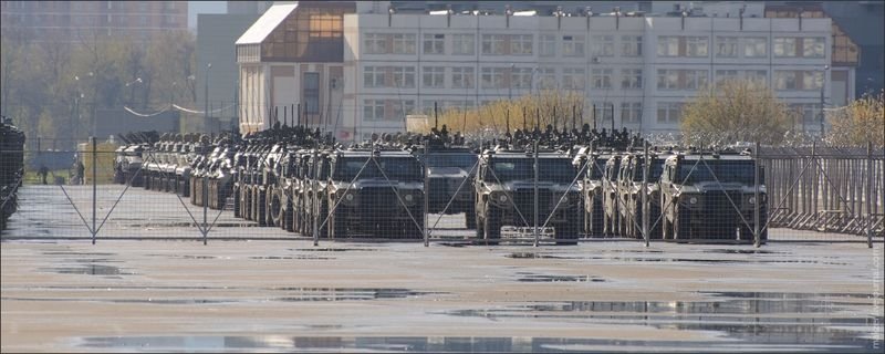
[[[0,230],[19,207],[18,189],[24,176],[24,133],[0,117]]]

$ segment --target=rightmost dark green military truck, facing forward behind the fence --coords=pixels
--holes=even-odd
[[[753,241],[768,218],[764,185],[756,196],[756,160],[736,153],[689,152],[666,159],[660,176],[663,238],[669,240]],[[760,170],[759,183],[764,180]],[[768,239],[762,231],[761,240]]]

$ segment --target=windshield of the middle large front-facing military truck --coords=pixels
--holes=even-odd
[[[534,178],[534,158],[492,158],[491,165],[494,175],[488,174],[486,180],[496,181],[496,176],[502,183],[511,180],[525,180]],[[571,184],[577,176],[577,170],[568,157],[539,158],[538,178],[540,181]]]

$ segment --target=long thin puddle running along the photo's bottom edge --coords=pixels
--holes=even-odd
[[[481,337],[481,336],[97,336],[79,339],[79,346],[116,351],[150,350],[160,352],[592,352],[614,350],[701,350],[736,351],[839,351],[864,352],[873,341],[837,341],[832,344],[795,343],[789,347],[778,344],[740,341],[621,341],[559,337]]]

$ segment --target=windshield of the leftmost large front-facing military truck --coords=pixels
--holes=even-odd
[[[368,157],[344,157],[335,163],[335,171],[332,178],[335,180],[353,180],[363,165],[366,165],[360,178],[384,178],[387,175],[391,180],[421,181],[424,180],[424,169],[414,157],[375,157],[377,164],[366,160]],[[378,170],[378,165],[384,169],[384,174]]]

